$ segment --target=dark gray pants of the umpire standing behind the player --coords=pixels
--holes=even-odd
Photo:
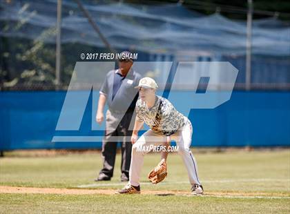
[[[124,114],[107,110],[106,131],[101,150],[103,168],[99,172],[99,176],[103,174],[106,177],[113,177],[117,142],[122,142],[121,178],[127,179],[129,177],[132,151],[131,135],[134,122],[135,113],[133,111],[127,111]]]

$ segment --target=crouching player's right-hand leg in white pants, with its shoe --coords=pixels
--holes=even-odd
[[[203,188],[197,175],[197,162],[195,161],[195,157],[190,150],[193,129],[189,119],[186,119],[184,128],[178,133],[179,134],[176,136],[177,146],[179,146],[178,153],[181,155],[184,165],[186,166],[186,170],[189,175],[189,182],[193,186],[193,194],[202,194]]]

